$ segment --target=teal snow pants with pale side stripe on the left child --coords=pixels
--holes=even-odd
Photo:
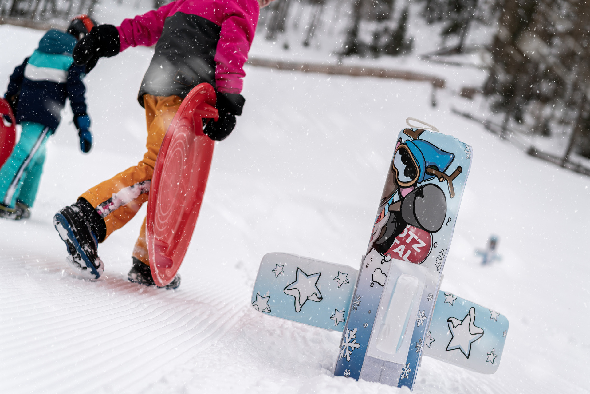
[[[28,207],[35,202],[45,162],[45,143],[51,134],[40,123],[21,125],[21,138],[0,170],[0,203],[11,208],[17,200]]]

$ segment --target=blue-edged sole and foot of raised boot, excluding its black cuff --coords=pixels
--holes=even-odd
[[[55,230],[67,246],[68,264],[74,271],[89,279],[98,279],[104,271],[104,263],[98,254],[98,242],[84,220],[82,211],[74,206],[65,207],[53,217]]]

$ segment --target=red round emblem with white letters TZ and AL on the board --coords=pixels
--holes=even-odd
[[[419,264],[427,258],[431,246],[432,235],[429,232],[408,224],[404,231],[395,237],[394,245],[385,254],[393,259]]]

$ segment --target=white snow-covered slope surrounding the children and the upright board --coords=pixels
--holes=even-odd
[[[41,34],[0,26],[0,82]],[[267,252],[358,268],[407,116],[474,148],[442,288],[510,320],[495,375],[424,357],[414,391],[589,392],[590,178],[457,118],[445,92],[432,108],[423,83],[247,67],[178,291],[126,280],[145,208],[100,245],[103,278],[76,278],[51,217],[143,155],[135,97],[150,56],[99,61],[86,79],[93,151],[78,151],[65,111],[32,218],[0,222],[1,392],[398,392],[333,377],[340,335],[261,315],[250,292]],[[483,267],[473,252],[490,233],[503,260]]]

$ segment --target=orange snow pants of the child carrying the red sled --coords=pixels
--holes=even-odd
[[[127,170],[87,190],[80,197],[99,212],[106,223],[106,239],[114,230],[123,227],[148,201],[149,184],[152,180],[153,167],[162,145],[164,135],[172,118],[182,102],[179,96],[143,95],[148,125],[148,151],[143,159]],[[103,240],[104,241],[104,240]],[[146,243],[146,220],[143,218],[139,238],[133,248],[133,257],[149,265],[148,245]]]

